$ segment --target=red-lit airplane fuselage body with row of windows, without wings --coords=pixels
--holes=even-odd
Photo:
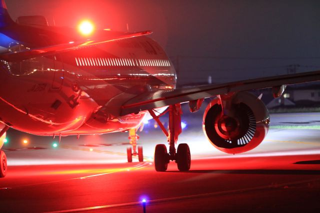
[[[73,42],[67,30],[4,28],[0,51]],[[146,36],[23,61],[1,60],[0,121],[37,135],[124,131],[139,125],[145,112],[119,116],[116,109],[139,93],[171,89],[175,83],[166,53]]]

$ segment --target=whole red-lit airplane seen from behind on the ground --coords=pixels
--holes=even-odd
[[[132,155],[143,161],[136,129],[148,115],[168,142],[168,150],[164,143],[155,146],[155,170],[165,171],[175,161],[185,171],[189,146],[176,148],[181,103],[195,112],[210,97],[202,121],[206,138],[223,152],[241,153],[259,145],[269,127],[266,106],[250,90],[271,87],[279,97],[286,85],[320,80],[320,71],[311,71],[176,88],[172,62],[150,33],[94,29],[89,23],[79,29],[49,26],[43,16],[13,21],[1,0],[0,148],[9,128],[59,139],[129,131],[127,161]],[[168,128],[159,120],[165,113]],[[1,150],[0,177],[6,173]]]

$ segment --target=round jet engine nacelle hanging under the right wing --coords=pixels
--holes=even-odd
[[[230,154],[255,148],[269,128],[269,113],[264,103],[245,91],[220,97],[215,97],[203,114],[202,128],[208,140]]]

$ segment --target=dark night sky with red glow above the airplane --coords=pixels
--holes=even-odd
[[[320,69],[318,0],[6,0],[9,13],[75,27],[152,30],[178,62],[179,83],[225,82]],[[178,60],[177,60],[178,58]]]

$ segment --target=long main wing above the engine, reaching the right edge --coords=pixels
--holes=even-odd
[[[125,102],[122,105],[119,114],[125,115],[135,113],[147,109],[158,108],[229,92],[268,88],[284,84],[288,85],[317,80],[320,80],[320,70],[189,88],[151,91],[139,94]]]

